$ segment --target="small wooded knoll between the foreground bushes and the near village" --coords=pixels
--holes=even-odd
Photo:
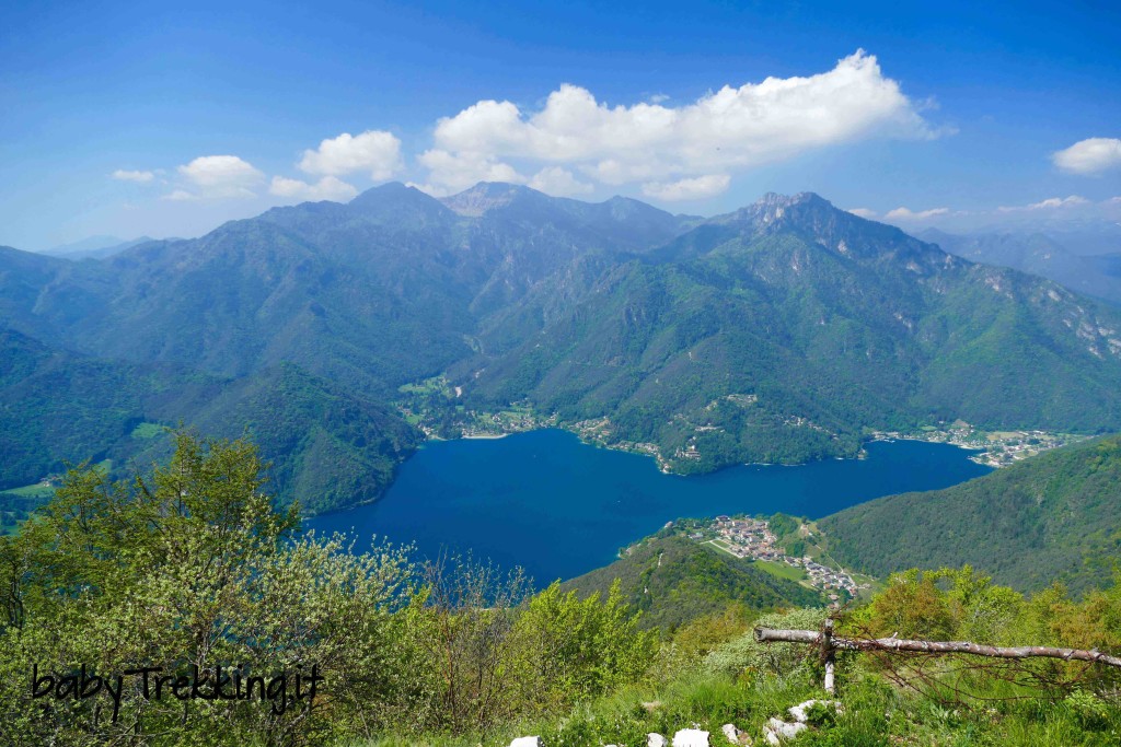
[[[813,589],[683,536],[650,538],[631,550],[626,558],[566,581],[562,588],[582,596],[593,591],[605,596],[618,580],[623,599],[642,611],[642,625],[664,629],[722,611],[730,604],[771,609],[822,600]]]

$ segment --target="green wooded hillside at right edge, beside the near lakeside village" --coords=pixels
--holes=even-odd
[[[818,526],[834,558],[877,576],[971,563],[1018,589],[1100,586],[1121,558],[1121,436],[864,503]]]

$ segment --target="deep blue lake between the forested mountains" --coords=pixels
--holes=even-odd
[[[584,445],[562,430],[427,443],[377,503],[307,522],[521,566],[537,586],[610,563],[619,548],[683,516],[784,513],[818,519],[892,493],[948,487],[990,471],[945,443],[878,441],[867,459],[740,466],[700,477]]]

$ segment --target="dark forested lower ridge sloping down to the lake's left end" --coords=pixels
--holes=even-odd
[[[249,436],[272,463],[282,502],[326,511],[378,497],[420,433],[385,407],[290,364],[237,380],[174,364],[133,364],[53,351],[0,332],[0,488],[111,460],[119,474],[167,456],[156,423]]]

